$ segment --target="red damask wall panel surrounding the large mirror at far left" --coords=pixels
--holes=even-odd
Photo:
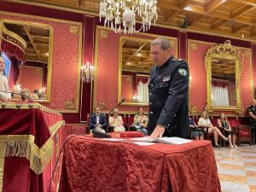
[[[79,112],[82,23],[15,14],[0,14],[0,19],[47,24],[53,28],[50,102],[44,105],[61,112]],[[73,102],[73,108],[66,107],[69,101]]]

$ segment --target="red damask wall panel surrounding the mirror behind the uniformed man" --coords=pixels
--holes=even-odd
[[[118,101],[119,90],[119,38],[123,34],[116,34],[106,28],[96,30],[96,80],[94,83],[94,106],[104,103],[106,112],[111,110]],[[136,38],[154,39],[143,33],[132,35]],[[177,38],[173,38],[172,55],[177,57]],[[137,112],[137,106],[122,105],[122,112]]]

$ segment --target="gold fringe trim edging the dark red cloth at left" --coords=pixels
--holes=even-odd
[[[64,124],[65,122],[61,120],[49,127],[51,136],[41,148],[38,148],[34,143],[35,137],[32,135],[0,136],[0,158],[9,156],[26,157],[30,162],[32,171],[40,174],[43,172],[44,166],[51,160],[54,146],[53,137]],[[1,162],[0,166],[2,166]]]

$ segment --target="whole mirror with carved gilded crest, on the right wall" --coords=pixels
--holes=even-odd
[[[207,111],[242,112],[240,68],[239,49],[230,41],[214,45],[207,51]]]

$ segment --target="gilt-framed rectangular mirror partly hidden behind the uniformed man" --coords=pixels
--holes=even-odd
[[[176,42],[172,38],[170,41],[172,55],[176,56]],[[125,98],[124,105],[148,105],[148,79],[154,65],[150,55],[151,42],[149,38],[120,38],[118,101]]]

